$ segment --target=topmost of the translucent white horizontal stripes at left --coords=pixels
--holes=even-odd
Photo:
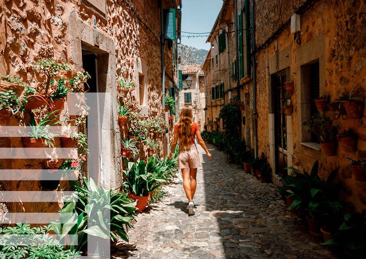
[[[39,132],[47,130],[55,137],[71,137],[71,132],[78,132],[76,126],[69,126],[66,132],[65,126],[0,126],[0,137],[27,137],[35,127]]]

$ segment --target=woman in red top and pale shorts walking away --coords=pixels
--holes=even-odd
[[[179,139],[178,168],[182,170],[183,188],[188,198],[188,215],[195,214],[193,196],[197,186],[197,168],[201,167],[200,156],[194,143],[195,136],[197,136],[198,143],[206,152],[208,159],[211,159],[212,155],[207,151],[201,137],[200,127],[197,123],[192,122],[192,109],[183,107],[179,121],[174,127],[174,140],[168,159],[172,157]]]

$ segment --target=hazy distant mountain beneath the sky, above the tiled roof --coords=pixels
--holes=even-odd
[[[181,65],[203,65],[208,50],[178,44],[178,56],[181,56]]]

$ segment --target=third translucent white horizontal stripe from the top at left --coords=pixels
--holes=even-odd
[[[75,170],[61,169],[1,169],[0,181],[35,181],[35,180],[77,180]]]

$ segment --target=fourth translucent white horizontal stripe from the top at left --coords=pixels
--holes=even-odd
[[[0,202],[59,202],[64,195],[76,192],[58,191],[0,191]]]

